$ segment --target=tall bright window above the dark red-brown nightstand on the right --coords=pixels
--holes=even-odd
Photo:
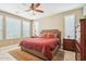
[[[64,38],[75,39],[75,15],[64,16]]]

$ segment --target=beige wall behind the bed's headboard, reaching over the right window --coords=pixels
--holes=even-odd
[[[78,22],[79,17],[82,17],[83,9],[81,8],[76,10],[71,10],[71,11],[59,13],[52,16],[37,20],[39,22],[39,31],[41,31],[42,29],[59,29],[61,31],[62,39],[63,39],[63,33],[64,33],[64,18],[63,17],[70,14],[75,14],[76,22]]]

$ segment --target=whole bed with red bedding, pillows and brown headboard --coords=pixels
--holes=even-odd
[[[61,33],[58,29],[45,29],[40,33],[40,37],[26,38],[20,46],[23,51],[42,60],[52,60],[61,47]]]

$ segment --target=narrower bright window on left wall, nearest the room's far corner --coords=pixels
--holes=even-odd
[[[23,21],[23,37],[29,37],[30,22]]]

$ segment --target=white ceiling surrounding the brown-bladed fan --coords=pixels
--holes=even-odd
[[[0,3],[0,10],[7,11],[26,18],[36,20],[40,17],[46,17],[56,13],[61,13],[64,11],[73,10],[83,7],[83,3],[41,3],[40,9],[44,10],[44,13],[36,13],[35,15],[32,12],[26,12],[29,7],[29,3]]]

